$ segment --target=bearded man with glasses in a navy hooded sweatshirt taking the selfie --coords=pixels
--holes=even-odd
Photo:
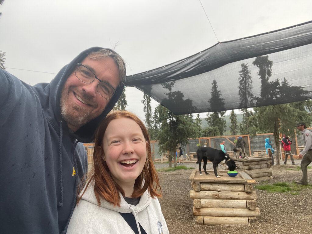
[[[0,233],[66,233],[85,180],[82,143],[124,89],[125,64],[92,47],[50,83],[27,85],[0,69]]]

